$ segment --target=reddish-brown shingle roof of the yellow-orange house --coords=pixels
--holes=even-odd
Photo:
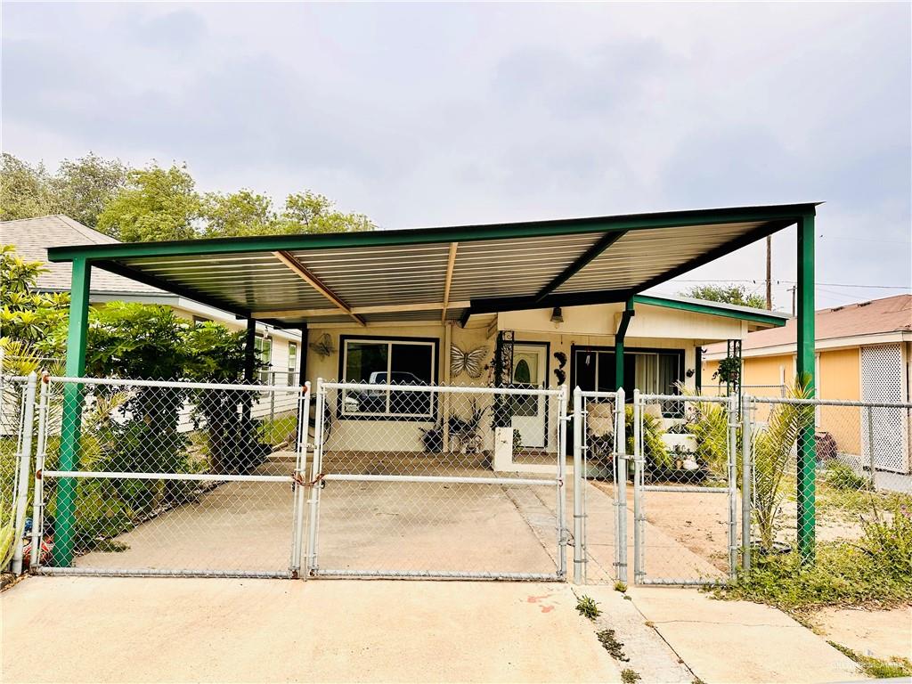
[[[793,345],[796,326],[797,322],[792,318],[785,326],[758,330],[747,336],[742,349]],[[912,295],[895,295],[819,309],[814,316],[814,326],[818,340],[912,331]],[[725,351],[725,347],[707,347],[708,353],[716,351]]]

